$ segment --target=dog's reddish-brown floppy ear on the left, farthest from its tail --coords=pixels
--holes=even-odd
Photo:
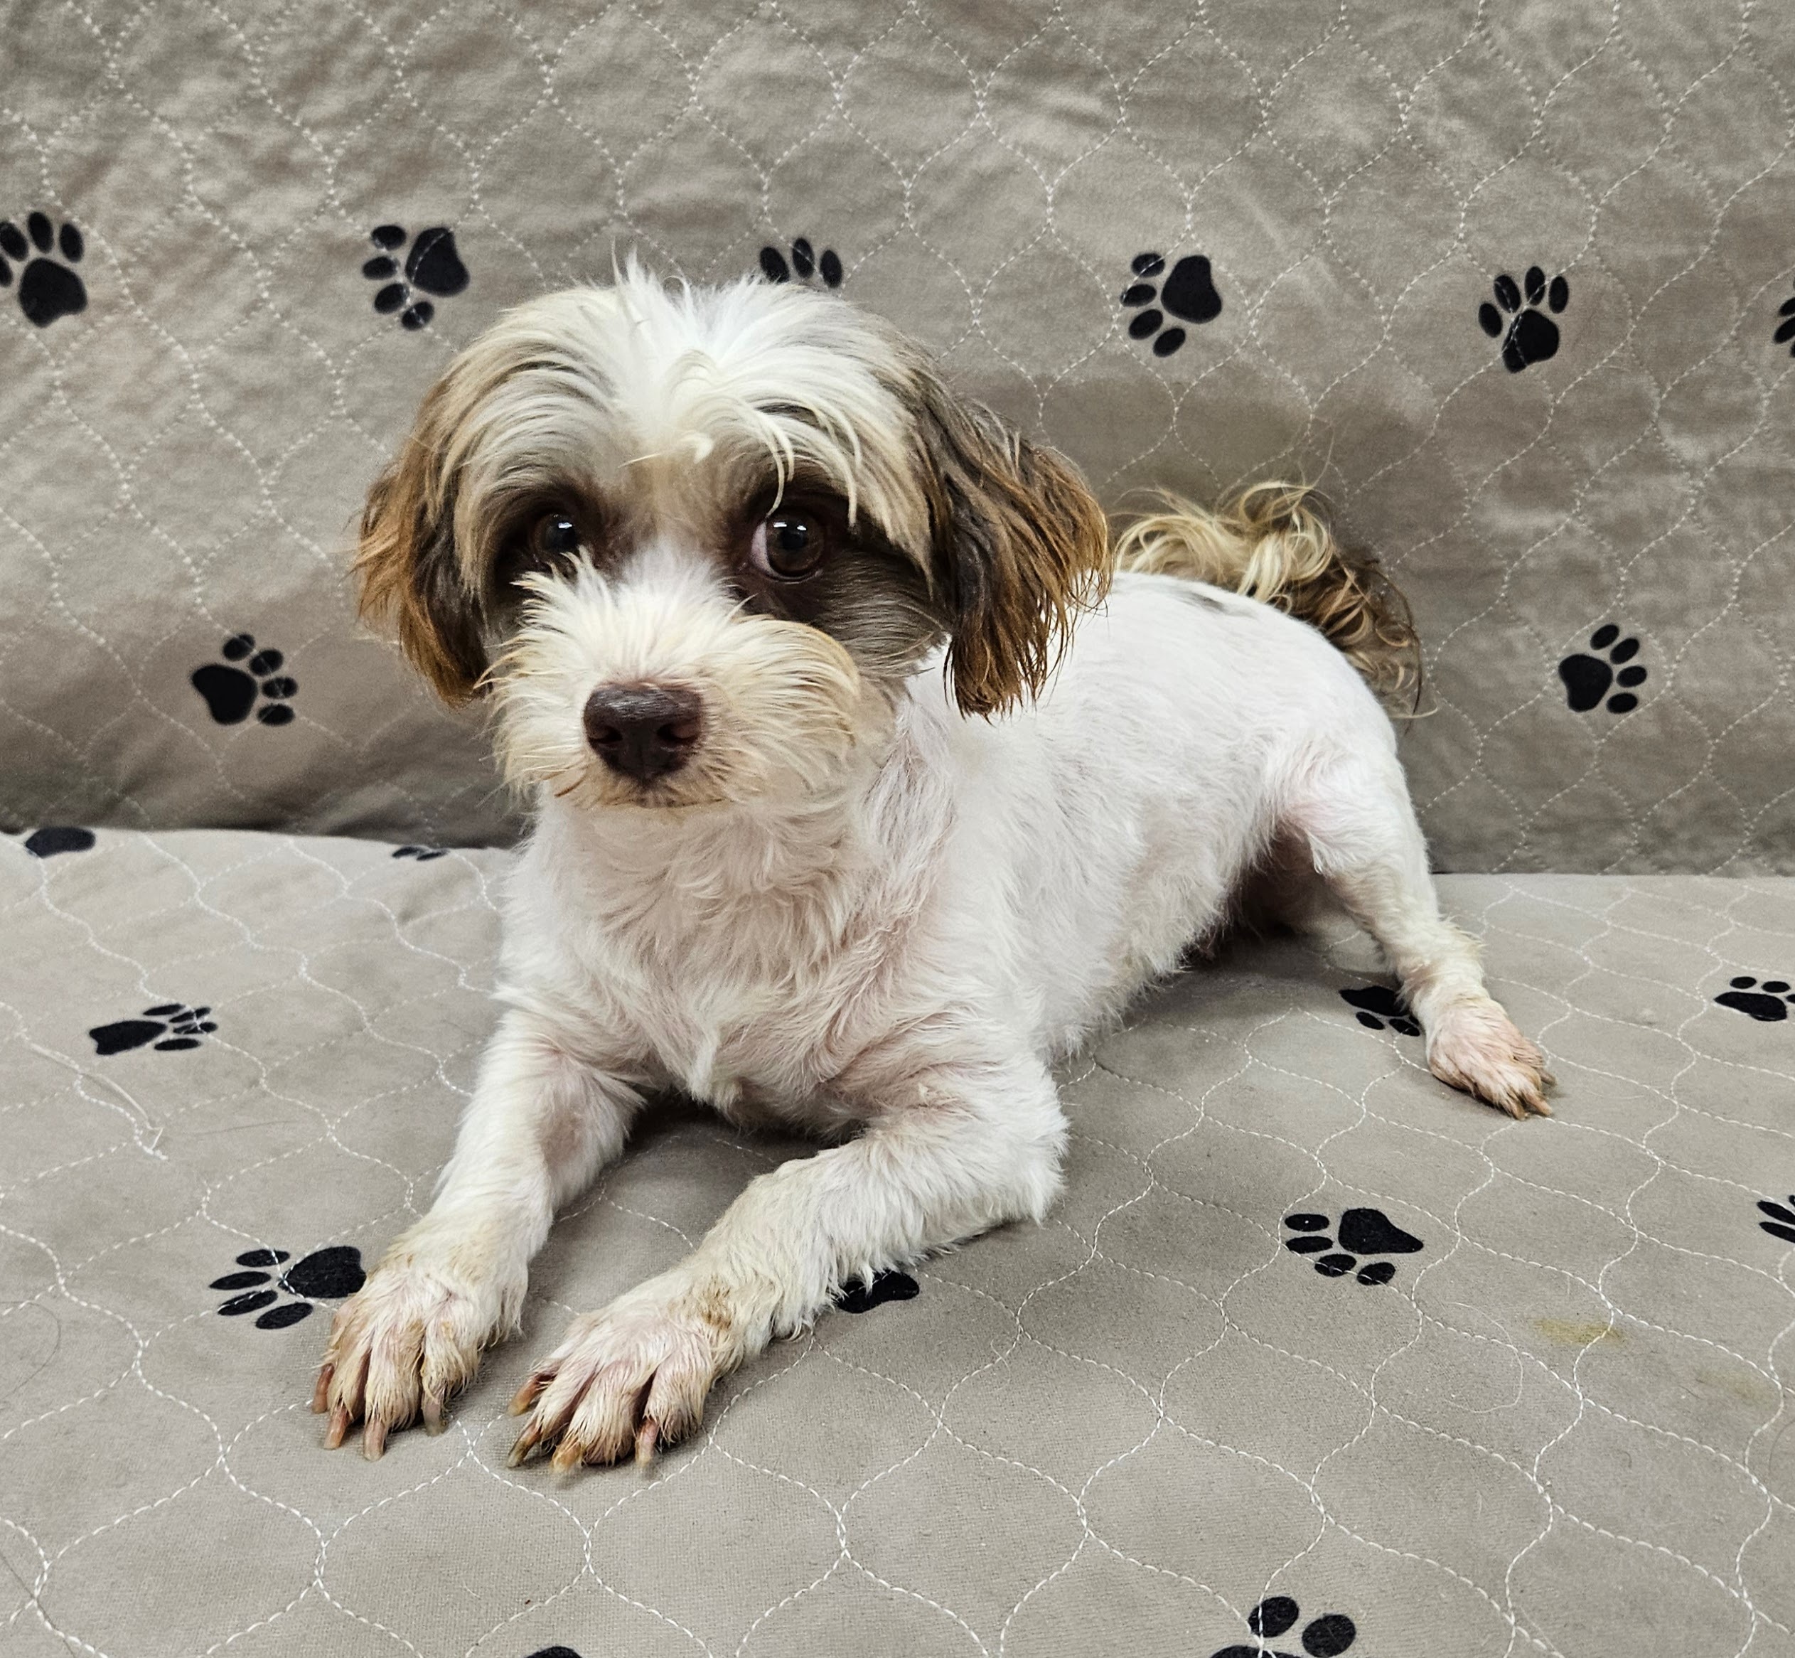
[[[411,664],[449,703],[468,702],[486,671],[481,603],[454,545],[454,479],[445,459],[454,370],[424,398],[416,425],[368,490],[355,576],[361,614],[397,632]]]

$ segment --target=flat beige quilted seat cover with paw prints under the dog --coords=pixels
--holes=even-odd
[[[1795,1654],[1795,881],[1449,877],[1549,1121],[1427,1077],[1364,940],[1230,951],[1068,1068],[1046,1224],[648,1473],[508,1471],[569,1315],[802,1154],[670,1105],[366,1464],[311,1374],[447,1156],[503,860],[0,843],[5,1658]]]

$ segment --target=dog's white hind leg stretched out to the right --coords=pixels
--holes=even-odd
[[[1440,913],[1402,766],[1388,750],[1334,754],[1285,809],[1316,872],[1384,947],[1427,1035],[1427,1068],[1510,1116],[1551,1116],[1551,1077],[1483,983],[1477,946]]]

